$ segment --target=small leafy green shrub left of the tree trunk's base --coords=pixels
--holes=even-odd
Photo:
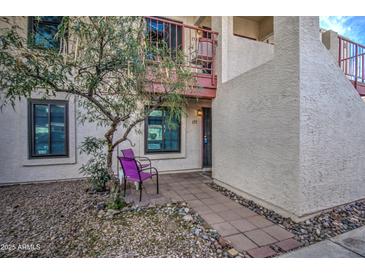
[[[80,171],[89,177],[89,182],[95,191],[105,191],[106,183],[111,179],[106,166],[105,140],[96,137],[86,137],[80,147],[80,154],[91,156]]]

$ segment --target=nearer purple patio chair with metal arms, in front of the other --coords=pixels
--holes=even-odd
[[[139,187],[139,201],[142,200],[142,184],[144,181],[148,179],[152,179],[153,176],[156,176],[156,184],[157,184],[157,194],[159,193],[158,187],[158,171],[154,167],[141,168],[137,161],[133,158],[127,157],[118,157],[120,165],[123,169],[123,181],[124,181],[124,197],[127,191],[127,180],[131,180],[134,182],[138,182]],[[144,172],[144,170],[150,170],[150,172]],[[152,172],[152,170],[154,172]]]

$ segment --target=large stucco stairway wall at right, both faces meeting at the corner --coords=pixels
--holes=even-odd
[[[318,29],[275,17],[274,59],[213,103],[214,179],[294,219],[365,197],[365,105]]]

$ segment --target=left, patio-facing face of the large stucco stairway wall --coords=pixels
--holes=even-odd
[[[298,36],[292,28],[298,19],[281,20],[276,19],[275,35],[277,30],[287,35],[275,36],[283,46],[274,59],[218,86],[213,177],[285,211],[295,208],[298,195],[299,54],[291,40]]]

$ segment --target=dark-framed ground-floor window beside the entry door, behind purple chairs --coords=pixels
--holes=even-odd
[[[181,120],[171,117],[166,109],[150,112],[145,120],[145,152],[180,152]]]

